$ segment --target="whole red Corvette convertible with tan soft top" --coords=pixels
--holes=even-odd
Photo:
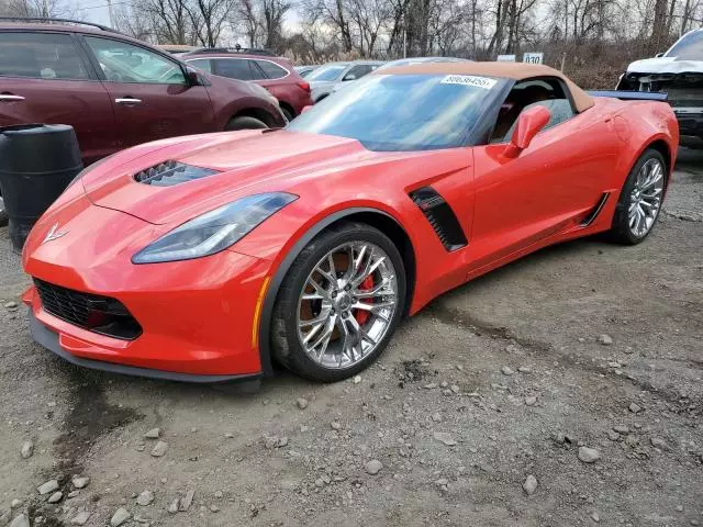
[[[641,242],[678,138],[666,103],[594,99],[544,66],[383,70],[283,130],[86,169],[26,242],[31,330],[114,372],[345,379],[467,280],[594,233]]]

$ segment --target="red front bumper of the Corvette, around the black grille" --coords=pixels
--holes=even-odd
[[[223,250],[136,266],[131,257],[153,239],[153,226],[81,206],[80,220],[56,218],[67,232],[58,239],[41,243],[37,234],[48,227],[44,218],[37,223],[25,246],[24,270],[44,282],[120,301],[142,333],[127,340],[74,325],[45,310],[33,287],[23,301],[40,344],[80,366],[143,377],[222,382],[260,374],[258,310],[270,261]]]

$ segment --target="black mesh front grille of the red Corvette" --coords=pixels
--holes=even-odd
[[[124,340],[142,334],[140,323],[119,300],[74,291],[36,278],[34,284],[44,310],[63,321]]]

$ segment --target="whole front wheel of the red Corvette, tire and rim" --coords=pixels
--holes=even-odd
[[[391,339],[405,290],[400,253],[379,229],[343,223],[323,231],[295,258],[279,290],[274,357],[314,381],[355,375]]]

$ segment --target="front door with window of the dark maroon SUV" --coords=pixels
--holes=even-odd
[[[207,89],[188,86],[178,63],[112,38],[85,40],[110,93],[120,147],[215,132]]]

